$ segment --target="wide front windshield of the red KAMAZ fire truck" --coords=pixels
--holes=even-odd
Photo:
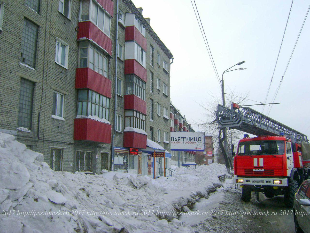
[[[240,142],[238,155],[280,155],[284,154],[284,141],[255,140]]]

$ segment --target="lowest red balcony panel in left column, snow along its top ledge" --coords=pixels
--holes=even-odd
[[[73,139],[111,143],[111,125],[89,118],[76,118]]]

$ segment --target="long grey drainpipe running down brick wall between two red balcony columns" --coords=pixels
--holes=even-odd
[[[114,85],[114,130],[113,130],[113,136],[112,136],[112,149],[111,149],[111,171],[114,171],[114,138],[115,138],[115,132],[117,130],[116,128],[116,113],[117,113],[117,42],[118,42],[118,0],[116,0],[116,36],[115,36],[115,85]]]

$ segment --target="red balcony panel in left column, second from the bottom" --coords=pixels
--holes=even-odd
[[[88,88],[111,98],[111,80],[90,68],[76,68],[75,88]]]

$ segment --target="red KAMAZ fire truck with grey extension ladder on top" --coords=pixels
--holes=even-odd
[[[215,112],[222,128],[248,134],[239,141],[234,157],[233,183],[242,187],[241,199],[250,201],[251,193],[262,192],[267,198],[284,195],[287,207],[293,206],[294,195],[309,179],[310,144],[307,136],[249,107],[232,103],[218,105]]]

